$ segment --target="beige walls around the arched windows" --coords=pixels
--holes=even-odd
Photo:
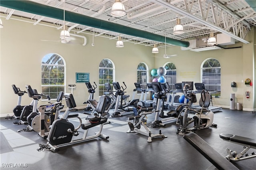
[[[29,21],[29,20],[28,20]],[[252,33],[255,30],[251,31]],[[73,32],[71,32],[73,33]],[[250,33],[249,35],[255,35]],[[61,55],[66,62],[66,85],[76,84],[74,97],[76,104],[82,104],[88,99],[87,88],[84,83],[75,83],[76,72],[90,73],[90,82],[98,84],[98,65],[104,58],[114,62],[116,69],[116,81],[126,82],[127,94],[132,95],[134,82],[136,82],[136,69],[140,62],[148,65],[149,73],[153,68],[163,66],[172,61],[177,68],[177,82],[194,81],[200,82],[200,67],[207,58],[216,58],[221,64],[221,98],[213,99],[214,105],[229,108],[230,93],[236,93],[236,102],[243,103],[244,109],[255,110],[253,99],[245,99],[245,91],[253,91],[253,87],[245,86],[242,80],[253,79],[252,52],[255,45],[247,44],[243,48],[222,49],[204,52],[181,51],[180,47],[168,47],[167,54],[178,54],[170,59],[152,57],[152,47],[135,45],[124,42],[123,48],[116,48],[116,40],[95,37],[95,46],[92,47],[92,36],[86,36],[87,45],[82,46],[82,38],[77,38],[75,43],[62,44],[54,42],[60,40],[60,30],[47,26],[20,22],[17,20],[6,20],[4,28],[0,29],[0,114],[12,114],[12,109],[17,104],[18,96],[14,95],[11,85],[16,84],[21,90],[25,85],[31,85],[33,89],[41,91],[41,60],[48,53]],[[253,36],[251,36],[253,37]],[[52,40],[52,41],[42,41]],[[252,41],[252,40],[250,40]],[[255,37],[253,39],[255,42]],[[246,51],[245,51],[246,49]],[[255,49],[254,49],[255,50]],[[164,49],[160,49],[157,55],[162,56]],[[253,55],[255,57],[255,55]],[[250,63],[247,65],[246,63]],[[237,88],[231,88],[230,83],[238,83]],[[254,87],[255,88],[255,87]],[[255,89],[254,89],[255,91]],[[70,89],[66,88],[70,93]],[[96,91],[98,94],[98,89]],[[255,97],[254,97],[255,98]],[[98,97],[95,95],[95,99]],[[255,101],[255,99],[254,99]],[[31,98],[27,95],[22,97],[22,105],[28,105]],[[39,101],[38,105],[45,104]]]

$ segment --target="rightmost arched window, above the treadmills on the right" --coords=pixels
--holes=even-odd
[[[204,60],[201,75],[206,90],[216,91],[212,96],[220,97],[220,62],[214,58]]]

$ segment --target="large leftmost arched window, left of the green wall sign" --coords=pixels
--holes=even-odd
[[[60,91],[65,92],[66,64],[64,59],[55,53],[42,58],[42,93],[51,99],[57,99]],[[42,97],[42,99],[46,99]]]

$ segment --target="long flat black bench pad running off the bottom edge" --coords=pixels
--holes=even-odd
[[[208,159],[219,170],[238,170],[231,162],[224,158],[214,148],[212,148],[206,141],[195,133],[188,133],[183,136],[198,152],[200,152],[206,159]]]

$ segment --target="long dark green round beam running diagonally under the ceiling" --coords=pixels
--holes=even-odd
[[[6,8],[11,8],[14,10],[19,10],[23,12],[32,13],[32,14],[37,14],[40,16],[55,18],[58,20],[63,20],[63,17],[64,17],[62,9],[46,6],[43,4],[38,4],[36,2],[32,2],[28,0],[0,0],[0,6],[4,6]],[[153,34],[150,32],[138,30],[128,26],[122,26],[120,24],[107,22],[104,20],[92,18],[82,14],[77,14],[74,12],[65,11],[65,20],[69,22],[85,25],[85,26],[112,31],[112,32],[118,32],[118,33],[130,35],[130,36],[146,38],[148,40],[153,40],[156,42],[163,42],[163,43],[165,42],[164,36],[159,36],[157,34]],[[173,38],[168,38],[168,37],[166,37],[166,43],[178,45],[182,47],[189,46],[189,42],[182,41],[182,40],[175,40]]]

